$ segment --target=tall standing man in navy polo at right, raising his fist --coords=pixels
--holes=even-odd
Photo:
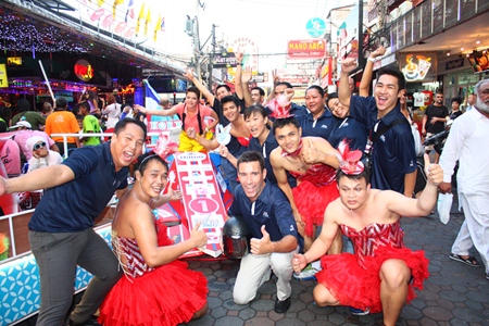
[[[348,78],[355,66],[353,59],[341,63],[340,102],[350,106],[350,115],[365,124],[371,137],[390,126],[373,146],[372,188],[390,189],[412,197],[417,165],[411,126],[400,111],[399,97],[404,89],[404,76],[399,70],[385,67],[377,75],[374,97],[351,96]],[[402,123],[397,124],[396,121]]]

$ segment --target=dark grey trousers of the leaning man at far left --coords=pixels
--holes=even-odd
[[[71,315],[76,323],[83,323],[96,313],[123,275],[114,253],[92,228],[59,234],[29,230],[29,242],[40,276],[37,326],[65,325],[73,302],[77,265],[91,273],[93,278]]]

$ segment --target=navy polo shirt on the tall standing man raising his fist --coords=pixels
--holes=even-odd
[[[350,115],[364,123],[371,137],[377,130],[390,125],[396,120],[402,120],[399,102],[396,108],[383,118],[377,118],[378,109],[374,97],[352,96],[350,99]],[[404,176],[416,170],[416,152],[414,139],[409,123],[398,124],[374,143],[372,151],[372,188],[404,192]]]

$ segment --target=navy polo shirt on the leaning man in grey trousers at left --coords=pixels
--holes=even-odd
[[[29,229],[45,233],[82,231],[93,226],[114,191],[127,187],[127,167],[115,173],[110,142],[77,150],[62,164],[75,178],[45,190]]]

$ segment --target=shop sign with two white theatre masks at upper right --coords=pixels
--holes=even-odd
[[[437,80],[436,52],[401,53],[399,54],[399,66],[406,83]]]

